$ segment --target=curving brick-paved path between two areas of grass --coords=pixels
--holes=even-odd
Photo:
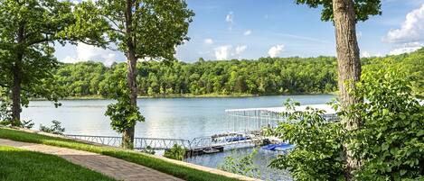
[[[14,140],[0,139],[0,145],[11,146],[19,149],[38,151],[42,153],[57,155],[74,164],[88,167],[94,171],[112,176],[118,180],[140,180],[140,181],[181,181],[182,179],[169,176],[155,169],[127,162],[122,159],[112,158],[97,153],[81,151],[76,149],[65,149],[42,144],[19,142]]]

